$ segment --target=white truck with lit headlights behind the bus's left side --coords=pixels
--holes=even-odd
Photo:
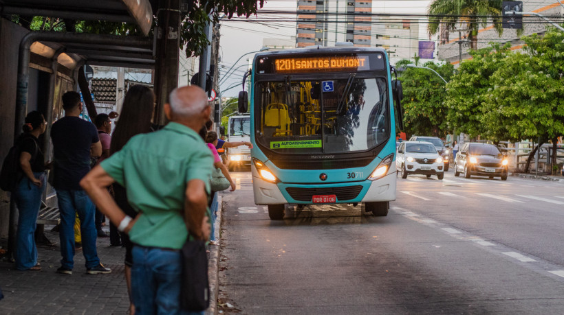
[[[229,142],[250,142],[250,116],[235,115],[229,117],[228,121]],[[227,149],[229,158],[229,170],[241,165],[250,165],[250,149],[246,145]]]

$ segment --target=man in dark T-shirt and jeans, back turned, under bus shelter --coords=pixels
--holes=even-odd
[[[80,118],[80,94],[69,91],[62,97],[65,117],[51,128],[54,156],[54,188],[57,191],[58,210],[61,213],[61,267],[58,273],[72,275],[74,267],[74,221],[80,219],[83,255],[86,272],[90,275],[109,273],[111,269],[100,264],[96,252],[94,203],[78,184],[90,171],[90,157],[102,154],[102,144],[96,126]]]

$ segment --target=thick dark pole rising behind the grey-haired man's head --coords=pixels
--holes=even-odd
[[[178,86],[180,62],[180,0],[160,0],[157,10],[158,27],[155,35],[155,106],[154,122],[166,124],[164,104],[169,93]]]

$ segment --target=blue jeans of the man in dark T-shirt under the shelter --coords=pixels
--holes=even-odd
[[[74,219],[76,213],[80,219],[80,234],[82,235],[83,255],[86,268],[100,264],[96,253],[96,226],[94,226],[94,203],[83,190],[57,189],[58,210],[61,213],[61,265],[72,269],[74,265]]]

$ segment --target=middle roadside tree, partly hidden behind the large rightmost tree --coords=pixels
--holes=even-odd
[[[488,134],[488,126],[483,121],[484,102],[494,88],[490,78],[503,67],[509,49],[507,44],[470,51],[472,58],[460,64],[446,85],[445,106],[451,130],[464,132],[470,137]]]

